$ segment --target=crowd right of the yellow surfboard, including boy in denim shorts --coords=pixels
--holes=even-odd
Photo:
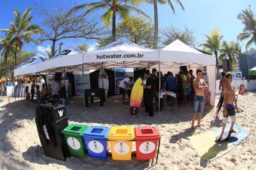
[[[184,104],[191,102],[191,105],[194,105],[191,128],[194,128],[193,120],[195,120],[196,113],[198,113],[198,126],[200,127],[200,117],[204,108],[204,90],[207,90],[208,86],[205,81],[201,79],[202,70],[198,69],[196,74],[197,77],[193,75],[193,70],[186,70],[185,72],[179,71],[179,73],[175,74],[174,77],[174,74],[170,71],[167,72],[167,74],[162,75],[162,73],[157,72],[157,69],[155,68],[153,68],[151,73],[149,70],[146,70],[146,84],[141,83],[141,85],[145,88],[144,105],[145,112],[148,113],[148,116],[154,116],[154,100],[157,103],[156,110],[158,110],[159,104],[161,112],[165,91],[172,91],[176,93],[176,98],[178,99],[179,104],[184,100]],[[160,98],[160,103],[158,103],[158,97]],[[167,96],[167,100],[170,100],[171,105],[174,104],[174,97]]]

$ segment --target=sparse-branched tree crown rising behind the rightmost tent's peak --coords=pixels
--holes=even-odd
[[[194,36],[194,30],[190,30],[185,26],[184,30],[181,30],[172,24],[170,26],[166,26],[161,30],[163,34],[163,45],[169,45],[174,42],[176,39],[181,40],[183,43],[189,46],[196,46],[196,37]]]

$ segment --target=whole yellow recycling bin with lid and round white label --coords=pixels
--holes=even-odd
[[[129,140],[134,140],[133,127],[111,127],[108,140],[113,140],[110,141],[112,159],[131,160],[132,141]]]

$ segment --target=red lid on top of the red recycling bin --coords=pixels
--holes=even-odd
[[[156,140],[161,134],[155,126],[142,126],[135,128],[135,140]]]

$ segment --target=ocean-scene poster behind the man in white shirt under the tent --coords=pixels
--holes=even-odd
[[[115,68],[115,89],[116,94],[120,94],[119,92],[119,84],[120,82],[128,77],[134,77],[133,76],[133,68]]]

